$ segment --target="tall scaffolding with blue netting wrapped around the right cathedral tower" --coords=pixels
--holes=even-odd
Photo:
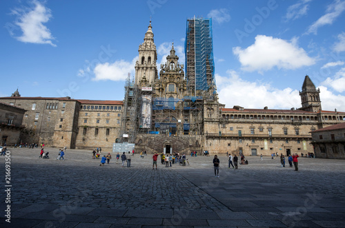
[[[187,89],[191,94],[197,96],[198,90],[206,91],[215,85],[212,19],[187,19],[185,59]]]

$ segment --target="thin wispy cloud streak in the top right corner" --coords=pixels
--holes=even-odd
[[[308,27],[305,34],[317,34],[317,29],[324,25],[331,25],[337,17],[345,10],[345,1],[335,0],[327,6],[326,14],[317,19],[312,25]]]

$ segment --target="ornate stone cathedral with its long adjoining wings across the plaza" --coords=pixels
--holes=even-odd
[[[345,122],[345,112],[322,110],[320,92],[309,76],[301,81],[297,110],[225,107],[213,80],[204,90],[188,86],[173,43],[158,70],[153,37],[150,23],[124,101],[25,97],[18,91],[0,98],[26,111],[17,143],[108,150],[113,143],[135,143],[137,151],[148,153],[305,154],[314,151],[311,132]]]

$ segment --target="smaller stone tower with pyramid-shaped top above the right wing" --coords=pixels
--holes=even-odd
[[[316,89],[313,81],[306,75],[304,83],[302,85],[302,92],[299,92],[301,96],[302,107],[299,110],[307,112],[319,112],[321,110],[321,101],[319,96],[320,90]]]

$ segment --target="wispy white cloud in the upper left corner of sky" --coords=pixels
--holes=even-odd
[[[30,9],[12,10],[12,13],[18,16],[15,24],[23,32],[21,37],[15,38],[24,43],[48,43],[56,47],[52,43],[55,38],[52,37],[50,30],[43,25],[52,17],[50,9],[43,6],[39,1],[34,0],[32,3],[34,6]]]

